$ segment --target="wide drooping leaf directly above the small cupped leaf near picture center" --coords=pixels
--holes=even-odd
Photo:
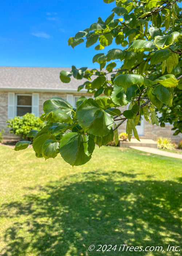
[[[122,86],[124,88],[124,91],[126,92],[127,88],[129,88],[133,84],[138,84],[139,86],[142,86],[142,84],[145,83],[145,79],[143,78],[143,76],[135,74],[119,75],[116,76],[116,78],[114,79],[114,83],[117,86]]]

